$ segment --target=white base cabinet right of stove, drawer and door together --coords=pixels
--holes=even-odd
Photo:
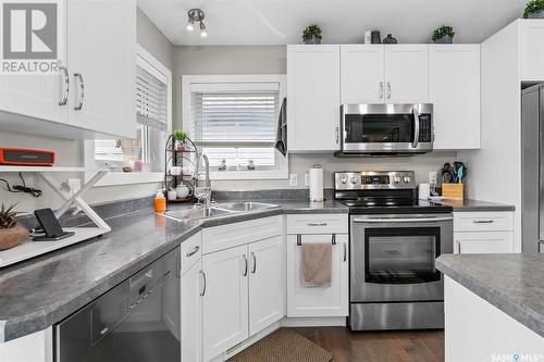
[[[514,213],[455,212],[454,253],[514,252]]]

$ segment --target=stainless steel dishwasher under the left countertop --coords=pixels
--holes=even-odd
[[[54,326],[57,362],[180,362],[180,247]]]

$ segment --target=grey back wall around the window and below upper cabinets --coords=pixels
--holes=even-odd
[[[174,48],[174,125],[182,124],[181,77],[206,74],[285,74],[285,46],[208,46]],[[324,168],[324,185],[332,187],[335,171],[346,170],[413,170],[418,183],[426,183],[430,171],[437,171],[455,152],[434,152],[412,158],[337,159],[332,154],[290,154],[289,173],[298,174],[298,187],[304,188],[307,170],[319,163]],[[251,190],[288,188],[287,179],[215,180],[215,189]]]

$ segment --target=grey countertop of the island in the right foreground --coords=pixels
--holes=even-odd
[[[442,254],[436,266],[544,337],[544,253]]]

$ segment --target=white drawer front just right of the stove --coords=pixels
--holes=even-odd
[[[503,212],[454,212],[454,232],[511,232],[514,213]]]

